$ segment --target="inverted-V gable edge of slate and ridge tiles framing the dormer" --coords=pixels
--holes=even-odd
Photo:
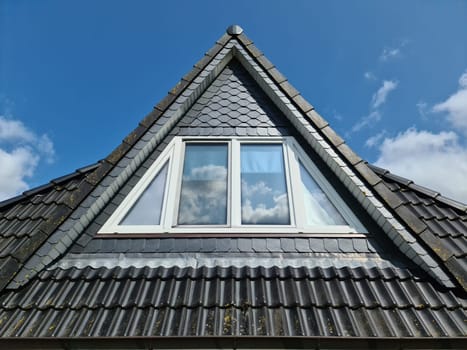
[[[241,63],[276,108],[287,117],[300,136],[307,141],[400,250],[440,283],[448,287],[453,286],[450,277],[432,258],[433,252],[427,251],[396,216],[386,209],[386,205],[394,198],[391,197],[389,190],[381,186],[381,179],[352,153],[314,108],[299,95],[243,33],[231,31],[216,43],[161,101],[155,111],[125,139],[124,143],[106,158],[88,181],[88,187],[89,184],[94,186],[90,189],[90,195],[74,211],[70,219],[61,221],[63,224],[26,263],[11,287],[26,283],[31,276],[59,258],[70,247],[83,229],[92,223],[96,215],[152,154],[156,146],[164,142],[172,128],[233,58]],[[369,185],[374,187],[371,188]],[[83,189],[82,193],[86,193],[86,190]],[[402,209],[399,210],[394,203],[391,203],[391,208],[404,219],[404,225],[408,225],[415,234],[424,230],[417,220],[411,220],[410,214]],[[455,274],[456,270],[451,272]]]

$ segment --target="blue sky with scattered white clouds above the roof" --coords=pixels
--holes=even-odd
[[[104,158],[236,23],[362,158],[467,202],[466,18],[465,1],[3,0],[0,196]]]

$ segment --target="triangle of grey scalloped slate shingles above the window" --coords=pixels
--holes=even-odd
[[[177,136],[279,136],[292,128],[242,65],[233,59],[172,130]],[[219,130],[220,129],[220,130]]]

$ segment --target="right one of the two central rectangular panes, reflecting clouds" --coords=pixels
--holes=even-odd
[[[282,145],[241,145],[242,224],[289,225]]]

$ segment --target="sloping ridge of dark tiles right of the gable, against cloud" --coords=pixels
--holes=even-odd
[[[397,182],[398,184],[404,185],[411,190],[414,190],[416,192],[419,192],[427,197],[430,197],[436,201],[439,201],[445,205],[448,205],[450,207],[453,207],[457,210],[460,210],[462,212],[467,213],[467,204],[464,204],[458,200],[449,198],[441,194],[440,192],[434,191],[428,187],[419,185],[415,183],[413,180],[407,179],[403,176],[396,175],[394,173],[391,173],[388,169],[378,167],[376,165],[367,164],[371,170],[373,170],[377,175],[384,177],[386,179],[389,179],[391,181]]]

